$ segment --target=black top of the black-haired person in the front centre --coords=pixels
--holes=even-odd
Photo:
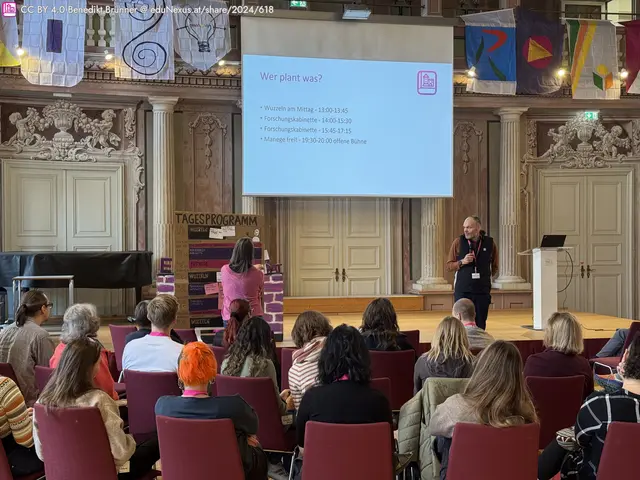
[[[300,447],[304,447],[308,421],[343,424],[389,422],[393,434],[391,406],[387,397],[369,385],[349,380],[319,385],[304,394],[296,418]]]

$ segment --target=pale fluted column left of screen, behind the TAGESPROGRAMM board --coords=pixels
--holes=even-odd
[[[153,106],[153,258],[155,272],[160,258],[175,253],[175,159],[173,108],[178,97],[149,97]]]

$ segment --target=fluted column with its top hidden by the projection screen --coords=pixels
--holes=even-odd
[[[451,290],[444,274],[446,246],[443,239],[444,199],[422,199],[422,276],[413,288],[418,291]]]

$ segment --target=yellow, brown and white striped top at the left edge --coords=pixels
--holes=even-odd
[[[20,389],[8,377],[0,377],[0,438],[13,434],[18,445],[33,447],[31,416]]]

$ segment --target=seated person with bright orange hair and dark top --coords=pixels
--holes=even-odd
[[[215,381],[218,365],[211,349],[202,342],[184,346],[178,364],[182,383],[181,397],[162,397],[156,403],[156,415],[175,418],[223,419],[233,421],[240,458],[247,480],[267,479],[267,456],[260,448],[258,416],[242,397],[211,397],[209,386]]]

